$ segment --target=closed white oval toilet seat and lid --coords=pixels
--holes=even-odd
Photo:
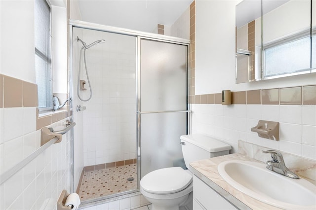
[[[184,169],[171,167],[148,173],[141,179],[140,185],[148,193],[171,194],[187,188],[192,181],[192,175]]]

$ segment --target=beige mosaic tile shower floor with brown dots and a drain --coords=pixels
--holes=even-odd
[[[133,177],[133,181],[127,179]],[[136,164],[84,172],[79,188],[80,200],[88,200],[136,189]]]

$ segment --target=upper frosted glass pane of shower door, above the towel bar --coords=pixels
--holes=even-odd
[[[186,110],[187,46],[141,40],[141,111]]]

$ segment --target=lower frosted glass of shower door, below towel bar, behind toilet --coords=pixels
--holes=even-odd
[[[186,112],[141,115],[141,177],[161,168],[185,167],[180,136],[186,126]]]

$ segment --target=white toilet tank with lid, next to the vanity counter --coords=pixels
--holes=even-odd
[[[232,147],[220,140],[202,134],[182,135],[180,137],[182,154],[186,167],[192,161],[228,155]]]

